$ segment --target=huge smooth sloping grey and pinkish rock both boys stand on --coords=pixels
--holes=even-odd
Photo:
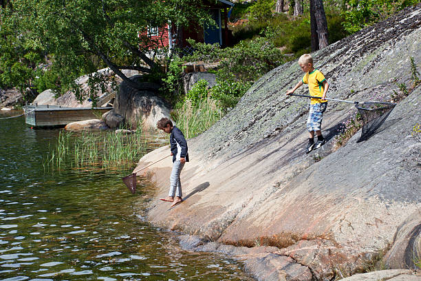
[[[413,85],[410,58],[421,65],[421,4],[313,55],[330,83],[328,97],[387,101],[398,84]],[[258,280],[293,279],[285,267],[299,268],[298,280],[350,275],[390,246],[396,264],[409,260],[405,249],[417,249],[421,224],[421,142],[413,136],[421,121],[421,85],[371,138],[357,143],[358,132],[335,152],[333,138],[355,108],[329,102],[327,143],[305,154],[308,101],[285,97],[302,76],[296,61],[277,67],[222,120],[188,141],[191,162],[182,171],[184,202],[177,207],[169,210],[158,200],[168,192],[171,160],[139,173],[157,186],[147,219],[198,236],[204,246],[197,249],[270,246],[260,256],[242,253]],[[168,153],[168,146],[156,149],[139,167]]]

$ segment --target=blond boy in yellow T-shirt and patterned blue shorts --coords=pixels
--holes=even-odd
[[[305,153],[311,152],[313,149],[318,149],[326,143],[325,138],[321,134],[321,121],[323,119],[323,112],[326,110],[327,101],[326,93],[329,89],[325,76],[319,70],[313,67],[313,58],[310,54],[303,54],[300,56],[299,65],[305,75],[299,83],[295,85],[287,94],[292,94],[296,89],[303,84],[308,85],[310,96],[319,96],[321,98],[312,98],[310,101],[310,112],[307,119],[307,129],[309,132],[309,139]],[[317,135],[317,142],[314,143],[314,132]]]

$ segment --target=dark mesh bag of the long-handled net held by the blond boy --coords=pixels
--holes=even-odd
[[[358,109],[361,118],[363,118],[363,130],[357,143],[360,141],[366,141],[370,136],[372,136],[374,132],[376,132],[376,129],[385,122],[387,116],[389,116],[395,105],[395,103],[379,101],[356,103],[355,107]]]

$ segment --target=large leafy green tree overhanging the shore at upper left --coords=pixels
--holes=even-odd
[[[51,70],[58,76],[58,87],[70,88],[80,100],[87,98],[75,79],[108,66],[131,87],[155,90],[157,85],[131,81],[122,70],[153,72],[160,69],[148,55],[157,43],[148,28],[170,22],[186,26],[209,20],[202,1],[197,0],[11,0],[4,24],[15,25],[14,34],[32,39],[52,54]],[[3,22],[1,23],[3,25]],[[91,76],[91,85],[105,81]],[[94,97],[94,96],[92,96]]]

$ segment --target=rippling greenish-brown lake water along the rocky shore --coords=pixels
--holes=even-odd
[[[241,264],[182,251],[174,233],[142,222],[148,189],[129,193],[121,178],[131,170],[45,171],[58,132],[0,120],[0,280],[252,280]]]

